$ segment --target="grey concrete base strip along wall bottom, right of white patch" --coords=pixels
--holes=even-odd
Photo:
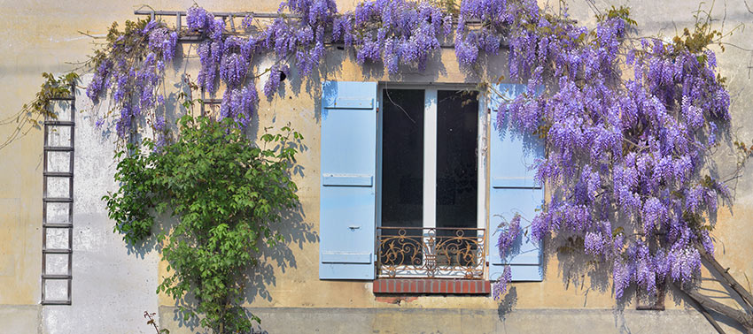
[[[253,308],[256,333],[714,333],[694,310],[611,309]],[[159,307],[170,333],[203,333],[176,323],[175,307]],[[730,329],[729,332],[735,332]]]

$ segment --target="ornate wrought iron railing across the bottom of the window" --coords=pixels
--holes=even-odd
[[[377,276],[481,279],[485,229],[377,227]]]

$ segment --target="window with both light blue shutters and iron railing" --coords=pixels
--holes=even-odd
[[[497,88],[511,99],[525,87]],[[502,259],[492,251],[495,236],[485,231],[516,213],[535,215],[543,190],[529,167],[543,148],[506,137],[492,122],[503,101],[487,108],[478,94],[446,86],[323,84],[320,278],[374,279],[381,261],[391,266],[380,272],[388,277],[493,280],[509,263],[514,280],[541,279],[539,245],[521,238],[518,252]],[[385,247],[402,251],[388,256]]]

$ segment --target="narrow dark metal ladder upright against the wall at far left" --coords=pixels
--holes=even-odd
[[[75,85],[67,114],[44,119],[42,197],[42,305],[71,305],[74,232]]]

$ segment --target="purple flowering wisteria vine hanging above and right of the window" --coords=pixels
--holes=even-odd
[[[704,159],[730,121],[730,96],[708,48],[717,36],[708,25],[673,42],[633,43],[627,37],[635,22],[624,8],[588,29],[535,0],[463,0],[457,11],[430,1],[368,0],[344,13],[333,0],[290,0],[279,12],[266,25],[249,14],[245,33],[198,6],[187,11],[188,31],[132,23],[97,51],[87,94],[97,100],[109,92],[120,110],[117,133],[127,135],[144,110],[164,103],[156,89],[179,33],[204,37],[198,86],[209,94],[223,87],[219,117],[241,125],[256,111],[261,74],[268,73],[263,94],[272,98],[292,70],[319,71],[330,42],[390,73],[425,69],[449,42],[470,69],[506,47],[513,79],[529,91],[548,88],[518,95],[497,122],[546,141],[547,159],[533,168],[552,190],[540,213],[527,217],[531,224],[521,226],[516,216],[503,227],[501,254],[525,229],[538,240],[578,235],[586,254],[609,263],[619,300],[630,285],[656,293],[664,281],[687,284],[701,265],[696,245],[713,253],[708,217],[729,192],[703,174]],[[254,57],[269,55],[274,65],[254,72]],[[163,127],[164,119],[154,124]],[[506,268],[495,298],[509,280]]]

